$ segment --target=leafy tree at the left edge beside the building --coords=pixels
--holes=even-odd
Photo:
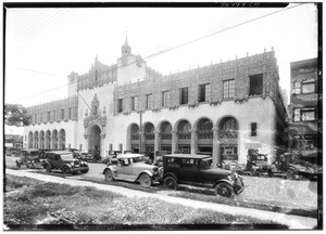
[[[30,125],[30,116],[27,109],[20,104],[4,105],[4,123],[7,126],[24,127]]]

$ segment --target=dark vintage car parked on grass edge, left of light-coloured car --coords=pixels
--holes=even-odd
[[[74,158],[73,153],[68,151],[47,152],[45,159],[41,160],[41,165],[48,172],[57,169],[63,173],[74,173],[77,171],[87,173],[89,170],[86,161]]]

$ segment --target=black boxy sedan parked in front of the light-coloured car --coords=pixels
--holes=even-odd
[[[240,194],[244,187],[242,177],[235,171],[212,168],[212,160],[208,155],[164,155],[161,180],[171,190],[177,190],[178,184],[191,184],[213,187],[220,196],[234,197]]]

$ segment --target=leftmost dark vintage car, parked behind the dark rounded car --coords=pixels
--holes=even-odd
[[[38,148],[24,148],[20,153],[20,158],[16,159],[16,167],[21,168],[25,165],[27,168],[36,168],[40,162],[41,152]]]

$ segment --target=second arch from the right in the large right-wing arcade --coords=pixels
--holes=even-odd
[[[208,118],[202,118],[196,128],[198,151],[213,153],[213,122]]]

